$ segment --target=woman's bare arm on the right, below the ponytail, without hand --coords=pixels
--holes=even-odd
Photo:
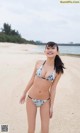
[[[55,99],[55,94],[56,94],[56,86],[61,77],[61,74],[62,73],[57,74],[57,76],[56,76],[55,80],[53,81],[53,84],[50,88],[50,108],[52,108],[52,109],[53,109],[53,104],[54,104],[54,99]]]

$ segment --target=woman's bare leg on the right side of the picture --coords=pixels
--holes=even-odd
[[[40,107],[41,133],[49,133],[49,100]]]

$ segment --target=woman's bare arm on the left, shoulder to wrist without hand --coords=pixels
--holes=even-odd
[[[31,76],[31,79],[29,80],[24,92],[23,92],[23,95],[26,95],[26,93],[28,92],[28,90],[30,89],[30,87],[32,86],[33,82],[34,82],[34,78],[35,78],[35,74],[36,74],[36,69],[37,69],[37,63],[39,61],[36,62],[35,64],[35,67],[34,67],[34,71],[33,71],[33,74]]]

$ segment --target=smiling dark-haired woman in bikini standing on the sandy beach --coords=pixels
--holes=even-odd
[[[59,48],[56,43],[48,42],[44,53],[47,59],[36,62],[32,77],[20,99],[20,103],[24,103],[29,91],[26,99],[28,133],[35,132],[37,107],[40,107],[41,133],[49,133],[56,86],[64,72],[64,64],[59,57]]]

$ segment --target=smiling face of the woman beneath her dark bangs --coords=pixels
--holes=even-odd
[[[45,47],[44,53],[47,57],[55,57],[58,54],[57,47],[54,45],[53,47]]]

